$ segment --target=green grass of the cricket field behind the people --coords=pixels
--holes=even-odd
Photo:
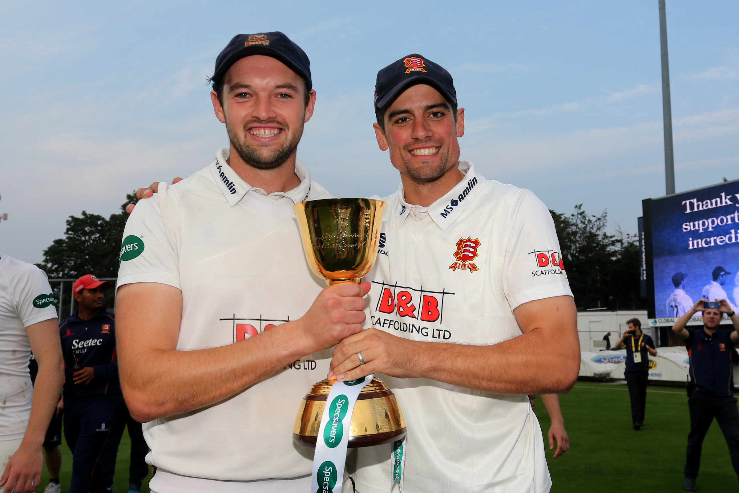
[[[565,428],[570,437],[570,450],[547,460],[554,486],[552,493],[563,492],[682,492],[685,445],[689,416],[685,390],[676,387],[649,387],[647,390],[646,425],[639,432],[631,428],[629,395],[625,385],[578,382],[568,395],[561,395]],[[537,398],[537,415],[545,435],[549,416]],[[118,449],[113,491],[126,493],[129,483],[128,433]],[[548,449],[548,446],[547,446]],[[72,455],[62,443],[61,487],[69,489]],[[44,468],[43,492],[48,483]],[[149,493],[149,479],[142,492]],[[706,435],[699,492],[737,492],[738,480],[729,459],[729,449],[718,424]]]

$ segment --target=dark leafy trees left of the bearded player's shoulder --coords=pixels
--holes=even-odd
[[[44,250],[44,261],[37,264],[50,279],[76,279],[92,273],[97,277],[118,276],[120,243],[126,227],[126,205],[135,203],[135,194],[126,194],[126,202],[119,214],[108,219],[98,214],[82,211],[80,217],[69,216],[64,238],[55,239]],[[55,296],[59,296],[58,283],[52,283]],[[61,300],[61,306],[69,306],[69,291]],[[106,305],[112,306],[112,290],[106,293]]]

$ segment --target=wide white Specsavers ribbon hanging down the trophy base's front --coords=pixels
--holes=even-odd
[[[331,386],[316,439],[311,493],[341,493],[354,404],[359,392],[370,381],[372,375],[367,375],[356,380],[337,381]]]

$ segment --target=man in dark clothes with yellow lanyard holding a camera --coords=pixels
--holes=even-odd
[[[626,370],[624,378],[629,386],[631,399],[631,421],[639,431],[644,426],[644,408],[647,405],[647,382],[649,380],[649,355],[657,356],[651,336],[641,332],[639,319],[627,320],[628,329],[616,341],[613,349],[626,347]]]

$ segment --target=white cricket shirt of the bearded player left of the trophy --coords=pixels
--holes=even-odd
[[[227,157],[221,149],[186,180],[160,183],[158,194],[137,203],[123,234],[119,286],[160,282],[183,293],[177,350],[259,337],[298,319],[326,287],[307,265],[292,205],[329,198],[327,191],[297,162],[300,186],[266,194],[245,183]],[[293,424],[330,358],[331,350],[305,356],[219,404],[145,424],[149,462],[214,480],[310,475],[313,449],[293,443]],[[158,493],[173,490],[156,480]],[[205,491],[197,485],[194,491]]]

